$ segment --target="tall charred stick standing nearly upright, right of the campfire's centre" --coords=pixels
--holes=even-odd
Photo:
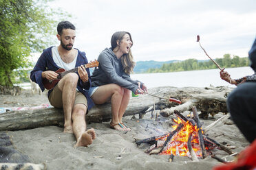
[[[199,130],[198,130],[198,139],[199,139],[199,144],[200,144],[201,151],[202,151],[202,158],[206,158],[206,150],[205,150],[205,146],[204,146],[204,138],[202,136],[202,127],[200,125],[200,120],[199,120],[199,117],[198,117],[198,111],[196,110],[195,106],[193,106],[192,110],[193,110],[193,115],[194,115],[195,123],[196,123],[197,127],[199,128]]]

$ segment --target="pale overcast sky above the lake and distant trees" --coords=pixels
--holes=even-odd
[[[74,47],[89,60],[123,30],[134,40],[136,61],[207,60],[198,34],[212,58],[247,57],[256,38],[256,0],[55,0],[49,5],[72,14]]]

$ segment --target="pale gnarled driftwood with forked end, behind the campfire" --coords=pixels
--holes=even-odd
[[[191,110],[195,106],[201,112],[200,117],[207,119],[209,114],[214,116],[218,112],[227,113],[226,97],[233,88],[224,86],[210,88],[184,88],[177,91],[177,97],[181,99],[182,104],[171,108],[164,108],[160,111],[162,116],[168,117],[174,110],[184,112]]]

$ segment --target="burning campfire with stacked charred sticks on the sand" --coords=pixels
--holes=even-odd
[[[223,162],[224,160],[214,156],[211,150],[217,147],[228,154],[233,154],[233,152],[204,134],[195,106],[192,110],[193,119],[188,119],[175,110],[174,113],[178,119],[173,119],[175,125],[173,125],[172,132],[145,138],[136,141],[136,144],[149,143],[151,146],[145,151],[147,154],[169,154],[171,159],[173,156],[188,156],[192,160],[198,161],[198,158],[206,158],[211,155],[212,158]]]

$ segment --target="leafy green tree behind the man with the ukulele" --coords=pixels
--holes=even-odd
[[[69,18],[47,7],[50,0],[0,0],[0,84],[10,87],[14,78],[25,77],[30,53],[53,43],[55,19]]]

